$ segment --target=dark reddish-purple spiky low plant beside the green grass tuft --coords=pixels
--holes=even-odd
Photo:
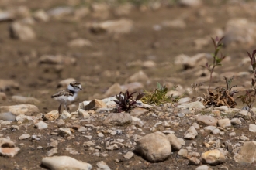
[[[113,100],[113,101],[116,102],[116,104],[118,104],[117,105],[118,112],[122,112],[122,111],[129,112],[136,106],[136,104],[137,104],[136,101],[140,100],[141,97],[144,96],[144,93],[139,93],[137,95],[136,99],[133,100],[134,93],[137,93],[137,92],[129,93],[129,91],[126,90],[125,93],[120,92],[119,95],[116,95],[117,100]]]

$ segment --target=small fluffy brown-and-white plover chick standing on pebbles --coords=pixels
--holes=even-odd
[[[72,81],[68,85],[67,90],[60,90],[57,93],[54,93],[54,95],[52,95],[51,98],[57,100],[61,104],[64,104],[64,110],[67,110],[67,103],[74,101],[75,98],[78,97],[78,91],[80,90],[83,90],[81,88],[81,83]],[[59,114],[61,114],[61,104],[58,107]]]

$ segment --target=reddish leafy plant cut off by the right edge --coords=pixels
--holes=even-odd
[[[254,104],[255,101],[255,96],[256,96],[256,59],[255,59],[255,53],[256,50],[254,50],[252,52],[252,54],[250,54],[249,52],[247,52],[248,56],[250,57],[251,60],[251,67],[252,67],[252,71],[251,73],[253,74],[253,78],[251,79],[251,89],[245,90],[245,94],[244,95],[240,95],[237,98],[240,98],[240,100],[242,101],[243,104],[246,104],[247,107],[249,107],[249,111],[251,110],[251,107]]]

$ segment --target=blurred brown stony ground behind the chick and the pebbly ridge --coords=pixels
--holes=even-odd
[[[213,87],[234,75],[242,94],[251,84],[255,16],[252,0],[0,0],[0,104],[19,104],[12,96],[20,95],[53,110],[50,95],[71,80],[85,89],[75,104],[157,82],[178,86],[169,94],[202,96],[209,71],[201,65],[213,62],[216,36],[225,36],[227,57]],[[203,84],[195,92],[192,83]]]

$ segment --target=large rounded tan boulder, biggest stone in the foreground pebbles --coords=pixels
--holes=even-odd
[[[171,144],[163,133],[157,131],[140,138],[135,151],[149,162],[161,162],[171,154]]]

